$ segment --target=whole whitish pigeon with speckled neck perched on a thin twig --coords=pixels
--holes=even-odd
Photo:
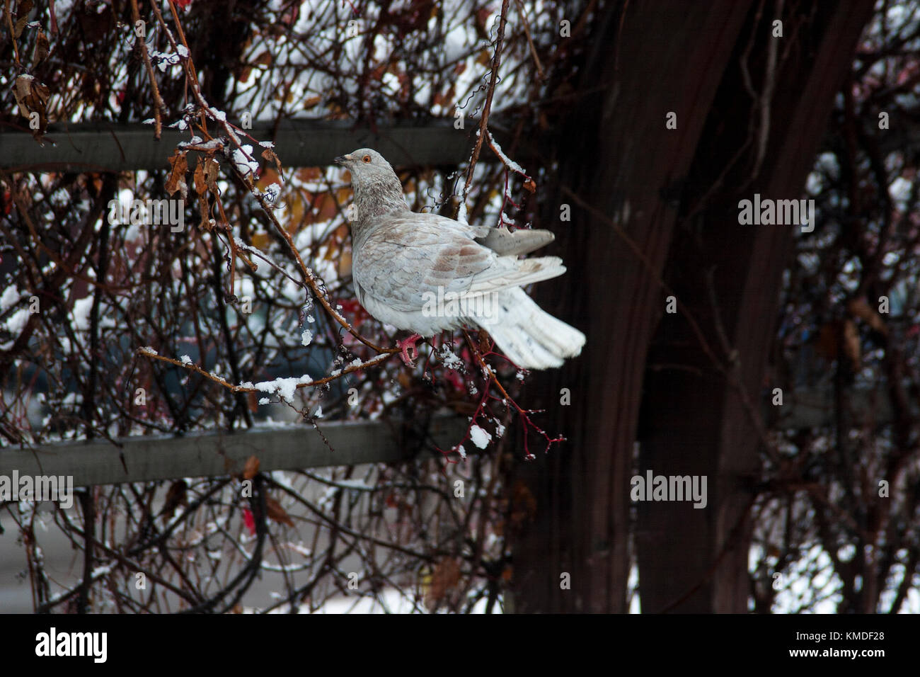
[[[475,326],[518,368],[560,367],[585,336],[536,305],[523,286],[566,272],[557,256],[521,259],[555,239],[548,230],[471,226],[409,209],[402,183],[378,152],[359,148],[335,161],[351,173],[351,275],[376,320],[420,338]],[[417,355],[417,353],[416,353]]]

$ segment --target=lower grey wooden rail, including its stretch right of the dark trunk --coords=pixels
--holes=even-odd
[[[851,390],[848,398],[851,424],[891,422],[891,401],[884,383]],[[920,413],[918,403],[912,406],[915,414]],[[763,414],[772,429],[833,426],[834,394],[829,390],[788,392],[782,406],[765,401]],[[253,454],[264,471],[405,461],[416,457],[420,449],[429,449],[420,451],[426,458],[432,444],[450,449],[463,438],[466,425],[464,417],[433,417],[428,444],[423,445],[418,438],[399,438],[381,421],[320,422],[335,451],[305,426],[257,426],[232,435],[198,432],[182,437],[125,438],[119,440],[121,449],[98,440],[61,442],[35,449],[0,449],[0,475],[8,476],[13,470],[20,475],[73,475],[75,486],[88,486],[236,473]]]

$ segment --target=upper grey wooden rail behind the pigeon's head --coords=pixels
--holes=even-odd
[[[239,121],[234,121],[239,125]],[[475,143],[477,121],[467,119],[464,129],[454,120],[396,121],[375,129],[347,120],[282,120],[253,122],[247,130],[257,141],[273,141],[285,167],[322,167],[332,158],[364,146],[374,147],[391,164],[453,166],[466,162]],[[499,143],[507,134],[500,116],[489,119],[489,129]],[[131,171],[168,169],[167,158],[188,132],[164,128],[159,141],[152,125],[132,123],[52,124],[40,146],[28,131],[0,130],[0,168],[13,171]],[[251,143],[251,142],[250,142]],[[256,157],[259,161],[260,152]],[[488,150],[482,160],[497,158]],[[520,159],[520,158],[519,158]]]

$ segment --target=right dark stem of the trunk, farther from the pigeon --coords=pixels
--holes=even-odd
[[[768,12],[756,26],[753,12],[744,23],[696,151],[682,216],[717,188],[678,229],[669,255],[676,297],[730,375],[720,375],[683,314],[664,315],[645,381],[640,475],[707,476],[708,502],[702,509],[690,502],[638,504],[644,612],[748,611],[749,509],[763,441],[758,431],[764,429],[753,416],[760,414],[762,391],[773,388],[765,382],[766,356],[799,226],[739,225],[739,201],[753,200],[754,193],[799,199],[873,3],[787,7],[783,38],[772,37],[775,17]],[[759,93],[765,91],[771,47],[778,48],[779,59],[759,173],[760,106],[748,94],[740,67],[751,35],[756,37],[747,63]],[[732,164],[746,139],[753,143]]]

